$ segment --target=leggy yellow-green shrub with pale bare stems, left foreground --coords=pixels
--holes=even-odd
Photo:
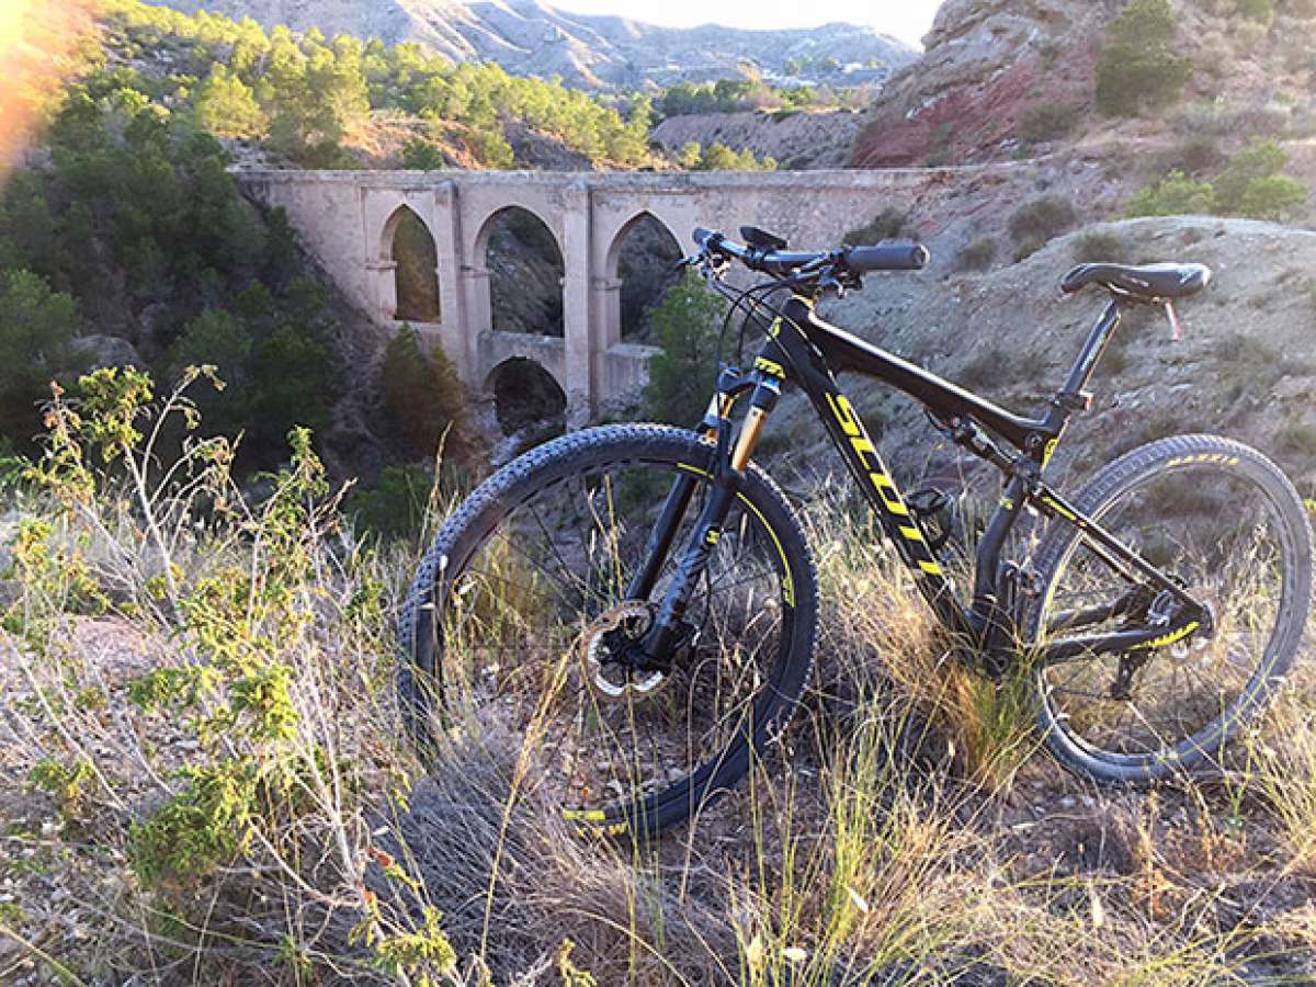
[[[415,776],[386,688],[401,567],[342,537],[304,429],[249,495],[234,445],[199,437],[203,386],[222,387],[193,368],[158,396],[112,368],[57,390],[25,471],[8,728],[68,853],[126,865],[78,895],[101,941],[70,975],[442,976],[437,912],[366,884],[367,792]]]

